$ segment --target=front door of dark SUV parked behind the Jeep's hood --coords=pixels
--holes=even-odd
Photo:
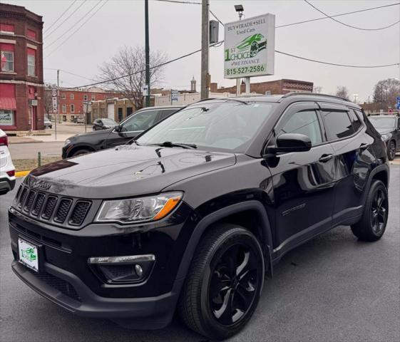
[[[158,109],[140,110],[138,113],[130,115],[120,124],[120,132],[113,130],[108,135],[106,148],[125,144],[125,142],[142,133],[143,130],[153,126],[157,122],[157,118]]]

